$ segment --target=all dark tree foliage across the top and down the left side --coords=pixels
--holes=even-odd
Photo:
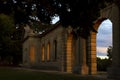
[[[41,24],[51,24],[55,16],[59,16],[64,27],[71,26],[75,35],[87,38],[90,31],[95,31],[93,21],[99,17],[100,9],[117,1],[0,0],[0,56],[12,56],[17,61],[16,56],[22,53],[23,25],[29,24],[38,31]]]

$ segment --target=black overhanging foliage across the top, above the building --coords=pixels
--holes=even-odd
[[[99,17],[99,10],[113,1],[1,0],[0,13],[12,14],[16,24],[34,21],[51,23],[54,16],[59,16],[63,26],[72,26],[75,33],[86,38],[91,30],[94,31],[93,21]]]

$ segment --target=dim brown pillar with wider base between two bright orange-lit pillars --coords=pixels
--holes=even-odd
[[[80,56],[80,74],[88,74],[88,66],[86,63],[86,39],[81,38],[81,56]]]

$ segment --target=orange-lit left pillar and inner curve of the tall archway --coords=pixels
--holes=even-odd
[[[96,31],[98,31],[98,28],[100,27],[100,24],[106,20],[107,18],[101,18],[98,19],[94,25],[94,28],[96,29]],[[90,60],[91,60],[91,65],[90,65],[90,74],[96,74],[97,73],[97,58],[96,58],[96,41],[97,41],[97,33],[96,32],[91,32],[91,36],[90,36],[90,45],[91,45],[91,49],[90,49]]]

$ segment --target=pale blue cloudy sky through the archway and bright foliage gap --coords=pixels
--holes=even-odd
[[[58,20],[59,17],[54,17],[52,23],[54,24]],[[107,48],[112,46],[112,22],[109,19],[100,24],[96,40],[97,57],[107,58]]]

